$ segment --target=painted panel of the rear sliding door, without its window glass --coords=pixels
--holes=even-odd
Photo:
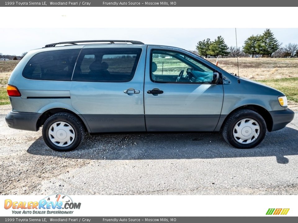
[[[106,45],[84,46],[86,48],[107,48]],[[109,48],[119,48],[111,45]],[[133,79],[129,82],[71,81],[70,100],[72,107],[83,117],[90,132],[137,132],[146,131],[144,120],[144,69],[146,46]],[[126,94],[125,90],[138,90],[137,94]]]

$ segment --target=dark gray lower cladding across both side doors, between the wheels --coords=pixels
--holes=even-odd
[[[219,115],[81,115],[91,133],[212,132]],[[146,122],[146,124],[145,124]]]

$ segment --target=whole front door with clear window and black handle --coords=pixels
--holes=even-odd
[[[214,66],[215,67],[215,66]],[[147,131],[214,131],[223,104],[219,72],[187,52],[148,46],[145,73]]]

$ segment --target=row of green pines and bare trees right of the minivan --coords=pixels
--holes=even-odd
[[[196,45],[196,50],[191,50],[197,55],[209,58],[214,57],[296,57],[298,56],[298,44],[289,43],[282,46],[270,29],[266,29],[261,35],[251,35],[242,47],[230,46],[224,42],[222,36],[214,41],[204,39]]]

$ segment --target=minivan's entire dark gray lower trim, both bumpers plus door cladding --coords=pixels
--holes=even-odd
[[[269,112],[273,126],[270,131],[284,128],[294,119],[291,109]],[[5,117],[10,128],[38,131],[37,121],[40,113],[9,112]],[[219,131],[226,115],[79,115],[84,118],[88,131],[91,133],[104,132],[174,132]],[[146,118],[145,118],[146,117]],[[146,125],[145,125],[146,120]],[[215,126],[217,127],[215,128]]]

